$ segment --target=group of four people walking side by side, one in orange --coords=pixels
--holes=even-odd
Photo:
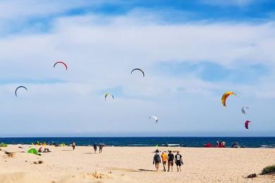
[[[177,151],[176,155],[173,155],[172,151],[169,151],[167,154],[166,151],[161,153],[159,156],[159,150],[155,151],[153,164],[156,168],[156,171],[159,170],[159,164],[162,161],[162,165],[164,166],[164,172],[166,172],[166,163],[168,165],[168,172],[173,172],[173,163],[176,163],[176,167],[178,171],[181,171],[181,165],[183,165],[183,156],[181,156],[180,152]]]

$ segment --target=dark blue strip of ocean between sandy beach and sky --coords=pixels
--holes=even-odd
[[[107,146],[187,146],[202,147],[207,142],[214,146],[216,141],[225,141],[230,147],[237,141],[240,146],[250,148],[275,148],[275,137],[13,137],[0,138],[0,143],[6,144],[32,144],[36,141],[56,144],[71,144],[78,146],[92,146],[104,143]]]

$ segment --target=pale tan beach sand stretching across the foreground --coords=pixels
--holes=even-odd
[[[22,146],[23,149],[18,148]],[[275,164],[275,149],[168,148],[180,150],[182,172],[154,172],[156,147],[104,147],[94,153],[92,146],[43,146],[51,153],[35,156],[23,153],[34,147],[8,145],[0,151],[0,182],[275,182],[275,176],[247,175]],[[8,157],[4,151],[16,152]],[[35,164],[42,160],[42,164]]]

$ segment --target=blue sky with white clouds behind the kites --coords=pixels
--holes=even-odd
[[[274,12],[272,0],[0,0],[0,137],[274,136]]]

